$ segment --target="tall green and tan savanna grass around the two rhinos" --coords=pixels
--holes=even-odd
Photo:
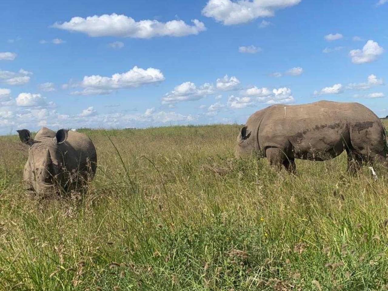
[[[1,137],[0,290],[387,290],[388,173],[345,153],[277,173],[234,158],[240,128],[80,130],[87,194],[44,201]]]

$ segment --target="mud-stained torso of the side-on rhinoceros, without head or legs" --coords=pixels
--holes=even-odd
[[[255,114],[262,115],[258,128],[260,148],[278,147],[292,151],[296,158],[333,158],[351,147],[362,154],[377,153],[386,147],[381,121],[356,102],[279,104]]]

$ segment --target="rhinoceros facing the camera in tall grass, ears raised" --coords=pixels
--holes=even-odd
[[[94,177],[97,154],[93,142],[83,133],[64,129],[55,133],[43,127],[32,139],[29,130],[17,132],[20,140],[29,145],[23,175],[27,190],[40,196],[59,188],[82,190]]]

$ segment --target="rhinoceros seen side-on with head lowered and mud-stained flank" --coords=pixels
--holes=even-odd
[[[318,101],[253,113],[237,138],[236,156],[262,152],[271,165],[294,171],[295,158],[324,161],[344,150],[352,173],[363,160],[386,162],[383,124],[359,103]]]

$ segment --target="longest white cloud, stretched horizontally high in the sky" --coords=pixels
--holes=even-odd
[[[88,16],[86,18],[73,17],[68,22],[54,23],[54,28],[86,33],[89,36],[121,36],[132,38],[152,38],[155,36],[185,36],[197,35],[206,30],[205,25],[192,20],[190,26],[182,20],[172,20],[166,23],[157,20],[135,21],[132,17],[118,15]]]

